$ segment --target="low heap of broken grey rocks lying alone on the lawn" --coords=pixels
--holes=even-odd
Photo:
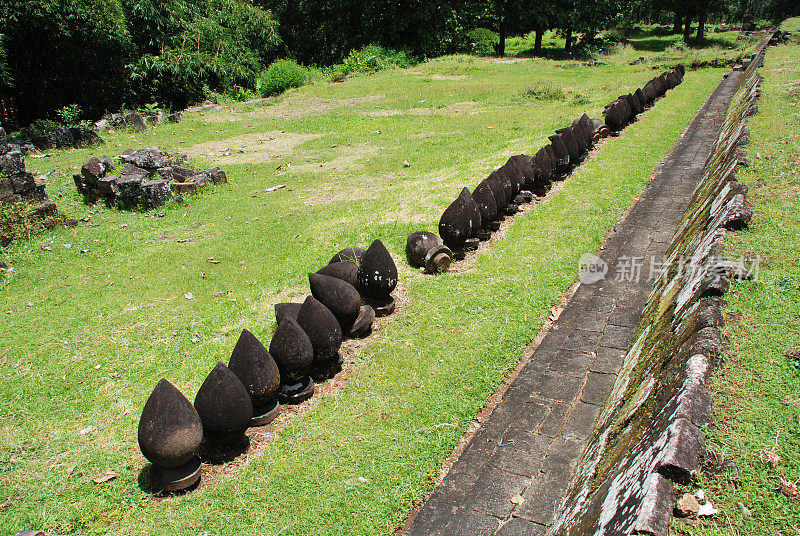
[[[73,176],[78,192],[91,203],[105,199],[120,208],[143,206],[153,208],[183,194],[196,194],[209,183],[228,182],[218,167],[195,171],[180,165],[184,158],[171,156],[159,149],[128,149],[119,155],[119,175],[114,162],[106,155],[92,157]]]

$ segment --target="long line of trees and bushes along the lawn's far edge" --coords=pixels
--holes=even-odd
[[[558,29],[567,48],[623,21],[701,28],[713,13],[781,19],[797,0],[0,0],[0,121],[22,126],[77,104],[86,118],[247,96],[278,58],[327,66],[376,44],[424,58]],[[702,37],[702,34],[700,34]],[[538,52],[538,50],[537,50]]]

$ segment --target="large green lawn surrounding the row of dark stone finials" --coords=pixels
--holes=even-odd
[[[405,238],[436,230],[460,188],[509,155],[658,74],[626,54],[596,67],[441,58],[29,158],[60,208],[88,221],[2,252],[0,533],[391,534],[723,71],[687,72],[474,269],[422,276],[399,261]],[[544,85],[563,100],[531,100]],[[230,183],[162,211],[82,203],[82,162],[142,146],[220,165]],[[373,238],[398,259],[409,304],[350,382],[236,474],[168,500],[143,493],[136,427],[158,379],[193,399],[242,328],[268,342],[273,303]],[[120,477],[92,482],[109,470]]]

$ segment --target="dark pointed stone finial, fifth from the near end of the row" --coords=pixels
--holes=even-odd
[[[311,377],[317,381],[332,378],[341,370],[342,363],[339,355],[342,328],[336,316],[319,300],[309,296],[297,313],[297,324],[306,332],[314,349]]]

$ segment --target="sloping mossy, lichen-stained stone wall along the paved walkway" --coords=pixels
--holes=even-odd
[[[669,531],[674,483],[688,483],[705,451],[709,376],[722,351],[722,296],[728,277],[747,276],[722,261],[726,229],[747,223],[746,187],[735,182],[754,113],[766,41],[739,88],[689,209],[668,249],[635,342],[584,451],[551,535]]]

